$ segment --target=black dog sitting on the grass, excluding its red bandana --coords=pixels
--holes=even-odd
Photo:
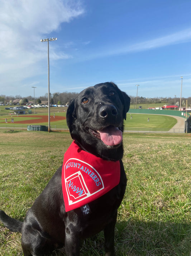
[[[121,158],[123,120],[126,119],[129,105],[129,96],[112,82],[89,87],[70,102],[67,125],[73,140],[83,152],[89,152],[108,163],[119,161],[119,184],[81,207],[84,211],[88,209],[89,214],[84,215],[80,207],[66,212],[61,166],[35,200],[23,223],[0,211],[0,220],[8,229],[22,232],[24,256],[47,255],[55,248],[63,246],[67,256],[78,256],[81,239],[101,230],[104,230],[105,236],[105,255],[115,255],[114,228],[126,187]],[[96,182],[97,176],[91,177]]]

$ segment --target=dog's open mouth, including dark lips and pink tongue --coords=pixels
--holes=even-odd
[[[110,125],[99,131],[88,128],[88,131],[97,139],[102,140],[104,144],[111,147],[119,145],[123,140],[122,131],[120,130],[120,128],[115,126]]]

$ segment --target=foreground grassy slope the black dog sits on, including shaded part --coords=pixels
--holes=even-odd
[[[0,208],[23,220],[72,140],[68,132],[17,131],[0,130]],[[116,255],[190,256],[190,143],[190,134],[124,134],[128,182],[115,228]],[[20,238],[0,224],[0,255],[22,256]],[[103,246],[101,232],[82,242],[81,255],[104,255]]]

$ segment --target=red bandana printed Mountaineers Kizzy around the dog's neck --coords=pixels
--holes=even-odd
[[[83,151],[73,141],[64,156],[62,191],[66,212],[86,205],[119,184],[119,161]]]

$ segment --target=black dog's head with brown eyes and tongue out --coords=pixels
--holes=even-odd
[[[85,151],[108,160],[123,156],[123,120],[130,98],[113,82],[81,91],[67,109],[71,136]]]

